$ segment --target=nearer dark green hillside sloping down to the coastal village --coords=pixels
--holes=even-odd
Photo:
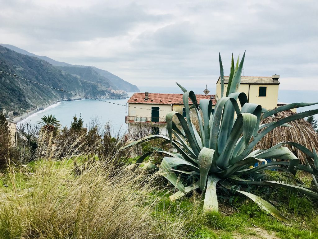
[[[111,93],[104,84],[72,76],[38,57],[19,54],[2,46],[0,46],[0,70],[92,98],[128,97],[127,94]],[[37,106],[45,107],[57,101],[79,98],[81,97],[0,73],[0,112],[5,109],[6,112],[22,113]]]

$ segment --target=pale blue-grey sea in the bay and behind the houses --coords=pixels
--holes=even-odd
[[[203,94],[205,87],[185,87],[187,90],[193,90],[196,94]],[[178,87],[139,87],[141,92],[148,91],[149,93],[183,93]],[[215,88],[208,87],[210,94],[214,94]],[[131,97],[134,92],[128,92]],[[70,127],[75,114],[80,115],[84,120],[84,126],[89,128],[92,122],[99,122],[103,127],[106,122],[112,126],[112,134],[124,134],[127,131],[127,124],[125,123],[125,115],[128,112],[127,99],[103,99],[91,100],[82,99],[74,101],[63,101],[51,105],[44,110],[31,114],[24,120],[23,123],[29,125],[37,125],[44,115],[55,115],[60,121],[62,127]],[[296,91],[296,90],[280,90],[278,102],[296,103],[296,102],[318,102],[318,91]],[[312,110],[318,108],[318,105],[312,105],[298,109],[297,112]],[[318,118],[318,115],[315,116]]]

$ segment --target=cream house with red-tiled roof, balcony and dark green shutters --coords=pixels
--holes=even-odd
[[[213,108],[216,104],[215,95],[196,95],[196,97],[199,104],[201,99],[211,99]],[[186,117],[183,94],[135,93],[127,103],[126,123],[130,134],[139,134],[142,130],[146,135],[150,133],[166,135],[165,124],[168,112],[176,111]],[[189,98],[189,105],[191,104]]]

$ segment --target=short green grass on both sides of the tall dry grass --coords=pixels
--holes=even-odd
[[[37,174],[38,168],[43,170],[47,167],[50,170],[57,170],[59,173],[64,170],[66,175],[72,176],[74,161],[81,163],[86,159],[39,160],[28,163],[26,167],[14,167],[14,173],[3,170],[0,175],[0,192],[7,195],[14,193],[12,186],[14,181],[17,194],[23,194],[20,191],[32,187],[32,177]],[[67,180],[70,180],[69,183],[72,183],[74,179],[76,179],[75,176],[67,176]],[[8,187],[3,187],[4,184],[7,184]],[[260,210],[255,203],[241,197],[235,197],[232,205],[229,204],[228,199],[219,197],[219,205],[221,205],[219,212],[204,214],[202,211],[203,195],[194,193],[191,197],[171,202],[169,196],[172,192],[165,187],[159,187],[161,189],[153,190],[149,194],[150,197],[144,201],[143,206],[154,205],[154,201],[156,201],[151,216],[157,221],[164,222],[165,225],[182,223],[179,227],[187,232],[188,238],[230,239],[234,236],[261,238],[259,230],[268,231],[282,239],[318,238],[317,202],[286,189],[277,189],[272,192],[270,197],[279,202],[276,207],[289,218],[288,223],[277,221]],[[3,202],[0,203],[0,206],[1,204]],[[14,226],[22,223],[19,221],[21,217],[18,217],[17,214],[17,207],[12,205],[3,207],[0,211],[0,219],[6,219],[0,220],[0,226],[10,228],[3,232],[7,233],[3,238],[15,238],[15,235],[21,235],[21,228]]]

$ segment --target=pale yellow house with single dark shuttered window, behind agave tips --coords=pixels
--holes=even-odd
[[[259,104],[267,110],[277,107],[279,75],[266,76],[241,76],[239,92],[244,92],[250,103]],[[224,76],[224,92],[226,92],[229,76]],[[221,80],[216,84],[216,98],[221,98]]]

